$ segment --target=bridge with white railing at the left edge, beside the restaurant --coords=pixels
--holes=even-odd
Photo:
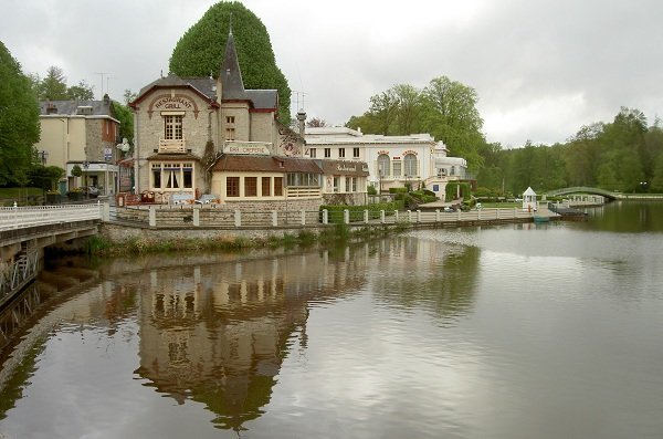
[[[0,208],[0,309],[41,269],[43,249],[97,232],[104,205]]]

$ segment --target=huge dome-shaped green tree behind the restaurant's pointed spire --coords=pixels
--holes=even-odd
[[[278,117],[290,124],[291,90],[276,65],[270,34],[262,21],[238,1],[219,2],[180,38],[170,58],[170,72],[178,76],[218,76],[225,43],[232,33],[249,90],[271,88],[278,92]]]

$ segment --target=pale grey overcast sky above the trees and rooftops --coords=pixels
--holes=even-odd
[[[7,4],[7,1],[9,4]],[[123,101],[168,72],[213,0],[6,0],[0,40],[24,73]],[[565,142],[621,106],[663,117],[660,0],[244,0],[308,117],[345,124],[396,84],[473,87],[490,142]],[[104,72],[103,81],[99,72]],[[297,96],[293,94],[293,114]]]

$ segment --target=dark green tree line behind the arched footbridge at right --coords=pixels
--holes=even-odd
[[[477,184],[493,194],[589,186],[622,192],[663,192],[663,128],[622,107],[612,122],[582,126],[564,144],[484,148]]]

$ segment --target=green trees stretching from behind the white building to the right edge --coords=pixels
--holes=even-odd
[[[370,97],[370,106],[346,124],[364,133],[429,133],[450,156],[463,157],[483,194],[522,194],[591,186],[623,192],[663,192],[663,127],[648,126],[639,109],[622,107],[609,123],[582,126],[564,144],[506,149],[487,143],[474,88],[446,76],[423,88],[399,84]]]

